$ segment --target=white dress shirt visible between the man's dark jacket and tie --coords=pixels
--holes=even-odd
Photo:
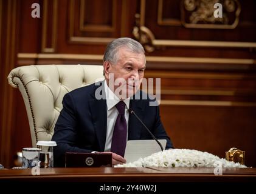
[[[114,131],[114,126],[116,123],[117,116],[119,115],[118,110],[116,109],[116,104],[120,99],[109,89],[106,80],[104,81],[104,88],[106,94],[106,143],[105,143],[105,152],[109,152],[111,149],[112,135]],[[129,120],[129,105],[130,98],[123,100],[125,102],[125,119],[127,124],[127,138],[128,138],[128,120]]]

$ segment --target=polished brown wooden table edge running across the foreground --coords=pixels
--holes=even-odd
[[[35,174],[35,173],[34,173]],[[256,182],[256,168],[223,168],[215,175],[214,168],[145,167],[145,168],[52,168],[0,170],[0,181],[78,181],[78,182]]]

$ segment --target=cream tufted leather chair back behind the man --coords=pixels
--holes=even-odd
[[[67,92],[102,79],[102,65],[28,65],[13,69],[8,81],[19,89],[25,102],[32,146],[52,139]]]

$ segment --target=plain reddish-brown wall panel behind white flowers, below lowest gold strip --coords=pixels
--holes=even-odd
[[[246,151],[245,164],[256,164],[255,107],[161,105],[161,119],[175,148],[195,149],[225,158],[231,147]]]

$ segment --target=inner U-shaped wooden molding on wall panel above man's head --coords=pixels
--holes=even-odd
[[[112,0],[112,25],[85,25],[85,0],[80,5],[80,30],[85,32],[114,32],[116,30],[117,0]]]

